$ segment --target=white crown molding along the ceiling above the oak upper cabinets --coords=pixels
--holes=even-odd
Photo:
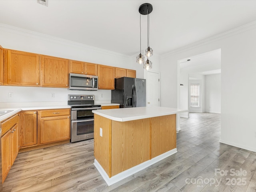
[[[80,48],[85,48],[85,49],[92,49],[98,52],[101,52],[103,54],[111,54],[111,55],[118,55],[118,56],[122,56],[122,57],[126,57],[129,58],[130,56],[124,55],[124,54],[120,54],[117,52],[113,52],[113,51],[109,51],[106,49],[101,49],[101,48],[97,48],[97,47],[93,47],[93,46],[89,46],[86,44],[82,44],[82,43],[78,43],[78,42],[74,42],[74,41],[70,41],[70,40],[66,40],[66,39],[62,39],[62,38],[58,38],[58,37],[54,37],[54,36],[50,36],[50,35],[46,35],[46,34],[42,34],[39,32],[34,32],[34,31],[30,31],[30,30],[26,30],[26,29],[22,29],[22,28],[18,28],[15,26],[10,26],[10,25],[6,25],[6,24],[2,24],[0,23],[0,29],[6,29],[9,32],[13,32],[13,33],[20,33],[23,34],[25,36],[33,36],[35,38],[41,38],[41,39],[46,39],[46,40],[51,40],[51,41],[55,41],[56,43],[61,43],[61,44],[68,44],[69,46],[78,46]]]

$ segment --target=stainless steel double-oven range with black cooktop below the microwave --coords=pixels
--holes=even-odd
[[[71,142],[82,141],[94,137],[94,113],[101,109],[94,104],[94,95],[68,95],[71,106]]]

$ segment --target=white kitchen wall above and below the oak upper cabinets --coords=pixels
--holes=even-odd
[[[0,45],[13,50],[128,68],[136,70],[137,78],[146,77],[143,66],[136,63],[136,56],[129,57],[3,24],[0,24]],[[159,71],[160,57],[154,55],[150,60],[153,62],[152,69]],[[13,93],[13,98],[8,98],[9,92]],[[67,88],[0,86],[0,93],[0,107],[1,103],[6,102],[65,102],[68,94],[94,94],[96,100],[111,100],[111,90],[71,91]],[[51,97],[51,93],[54,93],[54,98]],[[100,97],[101,94],[103,97]]]

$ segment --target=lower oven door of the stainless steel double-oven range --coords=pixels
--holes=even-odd
[[[92,139],[94,137],[94,119],[71,120],[71,142]]]

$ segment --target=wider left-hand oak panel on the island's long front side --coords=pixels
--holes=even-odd
[[[150,118],[112,120],[112,176],[150,160]]]

